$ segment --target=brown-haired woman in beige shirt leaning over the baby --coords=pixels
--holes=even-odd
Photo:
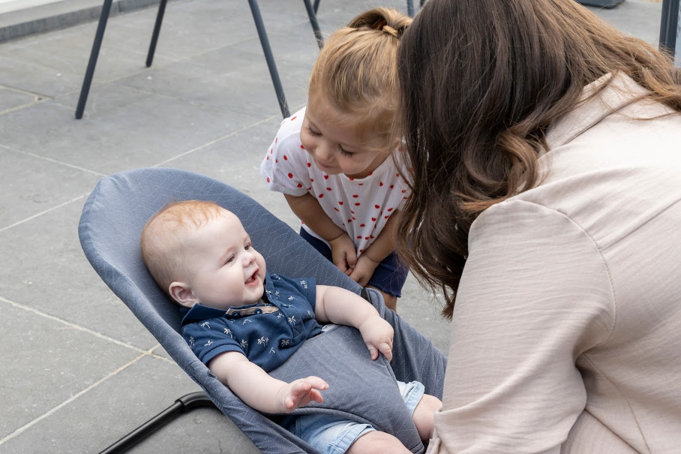
[[[678,452],[671,59],[573,0],[431,0],[399,59],[398,249],[452,318],[429,451]]]

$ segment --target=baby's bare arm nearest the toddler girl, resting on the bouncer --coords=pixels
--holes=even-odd
[[[340,287],[317,285],[315,318],[321,323],[330,321],[359,329],[371,359],[377,359],[379,351],[388,361],[392,359],[394,329],[360,295]]]

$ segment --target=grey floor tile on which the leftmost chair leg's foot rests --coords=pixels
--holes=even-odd
[[[2,140],[12,148],[112,174],[155,165],[260,119],[159,96],[125,110],[104,107],[96,115],[86,108],[82,120],[49,102],[30,112],[10,112],[3,116],[3,129],[11,133]]]

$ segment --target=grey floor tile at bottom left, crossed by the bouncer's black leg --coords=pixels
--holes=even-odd
[[[200,391],[200,388],[175,364],[143,357],[68,406],[35,423],[24,436],[0,445],[0,453],[96,453],[157,415],[180,396],[194,391]],[[132,452],[221,452],[214,450],[219,446],[234,449],[222,451],[227,453],[253,452],[249,451],[250,441],[220,415],[217,410],[200,410],[180,416],[181,419],[161,429],[139,450]],[[173,430],[174,427],[181,430]]]

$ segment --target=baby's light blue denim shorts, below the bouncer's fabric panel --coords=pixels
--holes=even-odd
[[[398,381],[397,385],[409,414],[413,414],[424,395],[424,385],[417,381]],[[288,429],[322,454],[343,454],[360,436],[376,430],[369,424],[330,415],[300,415]]]

